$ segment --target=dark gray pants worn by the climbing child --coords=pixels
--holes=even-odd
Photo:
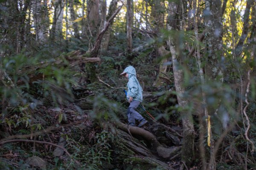
[[[131,126],[135,126],[135,119],[141,121],[143,119],[140,113],[136,112],[135,109],[140,105],[140,101],[133,100],[127,110],[128,122]]]

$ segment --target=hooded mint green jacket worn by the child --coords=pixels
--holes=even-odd
[[[126,98],[129,101],[130,96],[137,101],[142,102],[143,100],[143,89],[140,86],[139,81],[137,80],[136,77],[136,70],[134,69],[133,66],[128,66],[125,68],[125,70],[123,72],[126,72],[128,74],[128,83],[127,83],[127,87],[128,87],[128,91],[127,91],[127,96]]]

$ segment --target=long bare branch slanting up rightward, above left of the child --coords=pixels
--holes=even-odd
[[[90,52],[90,57],[96,57],[98,55],[103,35],[107,31],[108,27],[111,24],[111,21],[114,19],[114,17],[116,17],[116,15],[118,14],[118,12],[122,8],[122,6],[123,6],[123,4],[117,8],[116,12],[113,13],[113,15],[109,18],[108,22],[105,24],[105,26],[102,29],[102,31],[99,33],[99,35],[98,35],[98,37],[97,37],[97,39],[95,41],[95,45],[93,46],[93,49]]]

